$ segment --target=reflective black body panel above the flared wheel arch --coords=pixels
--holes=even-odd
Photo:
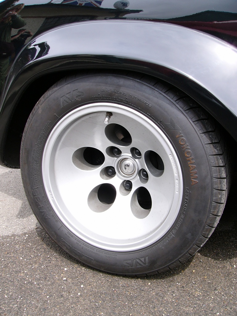
[[[0,3],[0,19],[0,91],[10,65],[29,40],[71,23],[124,19],[159,21],[206,32],[237,46],[235,0],[26,0],[24,3],[5,0]],[[123,36],[129,32],[130,29]],[[135,35],[137,41],[139,32],[141,30]],[[94,35],[95,40],[106,39],[106,33],[101,34],[100,30]],[[77,37],[82,40],[84,34],[80,32]],[[64,38],[55,40],[63,45]],[[31,43],[30,47],[28,61],[45,56],[49,51],[46,42],[35,46]]]

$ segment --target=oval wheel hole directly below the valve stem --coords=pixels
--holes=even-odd
[[[132,142],[129,131],[119,124],[109,124],[105,128],[106,137],[116,145],[128,146]]]

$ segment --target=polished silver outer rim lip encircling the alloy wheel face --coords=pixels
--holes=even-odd
[[[72,224],[71,221],[68,221],[68,219],[66,218],[65,214],[64,214],[64,210],[61,209],[61,206],[58,204],[57,200],[55,198],[53,198],[54,192],[52,190],[52,184],[51,184],[51,179],[50,179],[50,172],[49,172],[49,161],[51,158],[51,153],[52,153],[52,148],[53,145],[57,142],[58,140],[58,136],[59,134],[61,134],[62,130],[65,128],[65,126],[70,126],[70,124],[73,124],[75,122],[75,120],[80,119],[80,117],[84,117],[86,115],[95,113],[95,112],[107,112],[108,108],[110,112],[124,112],[126,113],[126,115],[128,114],[133,114],[135,116],[137,116],[137,118],[139,120],[143,120],[144,122],[146,122],[146,124],[148,123],[152,128],[155,128],[156,132],[158,132],[158,134],[161,136],[161,138],[165,141],[165,144],[169,147],[170,152],[172,154],[172,158],[171,158],[171,164],[173,164],[173,161],[175,162],[175,167],[173,167],[173,174],[174,178],[174,185],[176,185],[177,181],[179,181],[179,194],[178,194],[178,199],[176,198],[176,207],[175,207],[175,211],[173,211],[172,216],[170,216],[170,213],[168,214],[166,220],[164,222],[167,222],[168,218],[172,218],[171,221],[169,221],[168,223],[166,223],[165,225],[165,229],[160,230],[160,228],[158,229],[160,231],[160,234],[157,234],[157,231],[153,232],[152,234],[150,234],[148,237],[146,237],[145,239],[139,240],[138,242],[132,242],[132,243],[124,243],[124,244],[113,244],[113,243],[109,243],[109,242],[104,242],[102,240],[95,240],[93,238],[93,236],[88,236],[87,234],[84,234],[83,232],[79,231],[75,225]],[[129,112],[129,113],[128,113]],[[62,126],[63,125],[63,126]],[[56,135],[56,137],[55,137]],[[127,157],[127,156],[124,156]],[[131,157],[129,157],[131,158]],[[121,160],[121,157],[118,158],[117,161]],[[55,213],[57,214],[57,216],[60,218],[60,220],[62,221],[62,223],[65,225],[65,227],[67,229],[69,229],[73,234],[75,234],[78,238],[82,239],[85,242],[88,242],[88,244],[98,247],[100,249],[104,249],[107,251],[118,251],[118,252],[127,252],[127,251],[135,251],[135,250],[140,250],[143,249],[145,247],[148,247],[152,244],[154,244],[155,242],[157,242],[158,240],[160,240],[162,237],[164,237],[167,232],[170,230],[170,228],[172,228],[173,224],[175,223],[176,219],[178,218],[179,212],[180,212],[180,207],[182,204],[182,200],[183,200],[183,175],[182,175],[182,169],[181,169],[181,165],[179,162],[179,158],[176,154],[175,149],[173,148],[171,142],[169,141],[168,137],[164,134],[164,132],[158,127],[158,125],[156,125],[155,123],[153,123],[153,121],[149,118],[147,118],[145,115],[143,115],[142,113],[129,108],[127,106],[124,105],[120,105],[120,104],[116,104],[116,103],[108,103],[108,102],[97,102],[97,103],[90,103],[84,106],[80,106],[74,110],[72,110],[71,112],[67,113],[62,119],[60,119],[58,121],[58,123],[54,126],[54,128],[52,129],[52,131],[50,132],[46,144],[44,146],[44,151],[43,151],[43,156],[42,156],[42,179],[43,179],[43,184],[45,187],[45,191],[46,191],[46,195],[48,197],[48,201],[50,202],[52,208],[54,209]],[[175,169],[175,170],[174,170]],[[178,174],[177,174],[178,173]],[[121,175],[120,175],[120,178]],[[125,177],[125,179],[127,179],[127,177]],[[177,180],[178,179],[178,180]],[[175,189],[174,189],[175,192]],[[175,195],[175,193],[174,193]],[[171,209],[174,206],[174,201],[172,203]],[[161,227],[163,227],[164,223],[161,224]],[[88,223],[89,225],[89,223]]]

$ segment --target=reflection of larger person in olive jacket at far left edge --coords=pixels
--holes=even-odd
[[[9,56],[14,53],[14,45],[11,43],[11,29],[26,25],[25,20],[18,15],[23,8],[23,3],[11,7],[0,20],[0,91],[7,74]]]

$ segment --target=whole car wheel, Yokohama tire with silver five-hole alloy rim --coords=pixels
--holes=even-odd
[[[210,237],[228,192],[216,123],[181,91],[133,73],[60,80],[34,107],[21,145],[31,207],[74,258],[152,275]]]

